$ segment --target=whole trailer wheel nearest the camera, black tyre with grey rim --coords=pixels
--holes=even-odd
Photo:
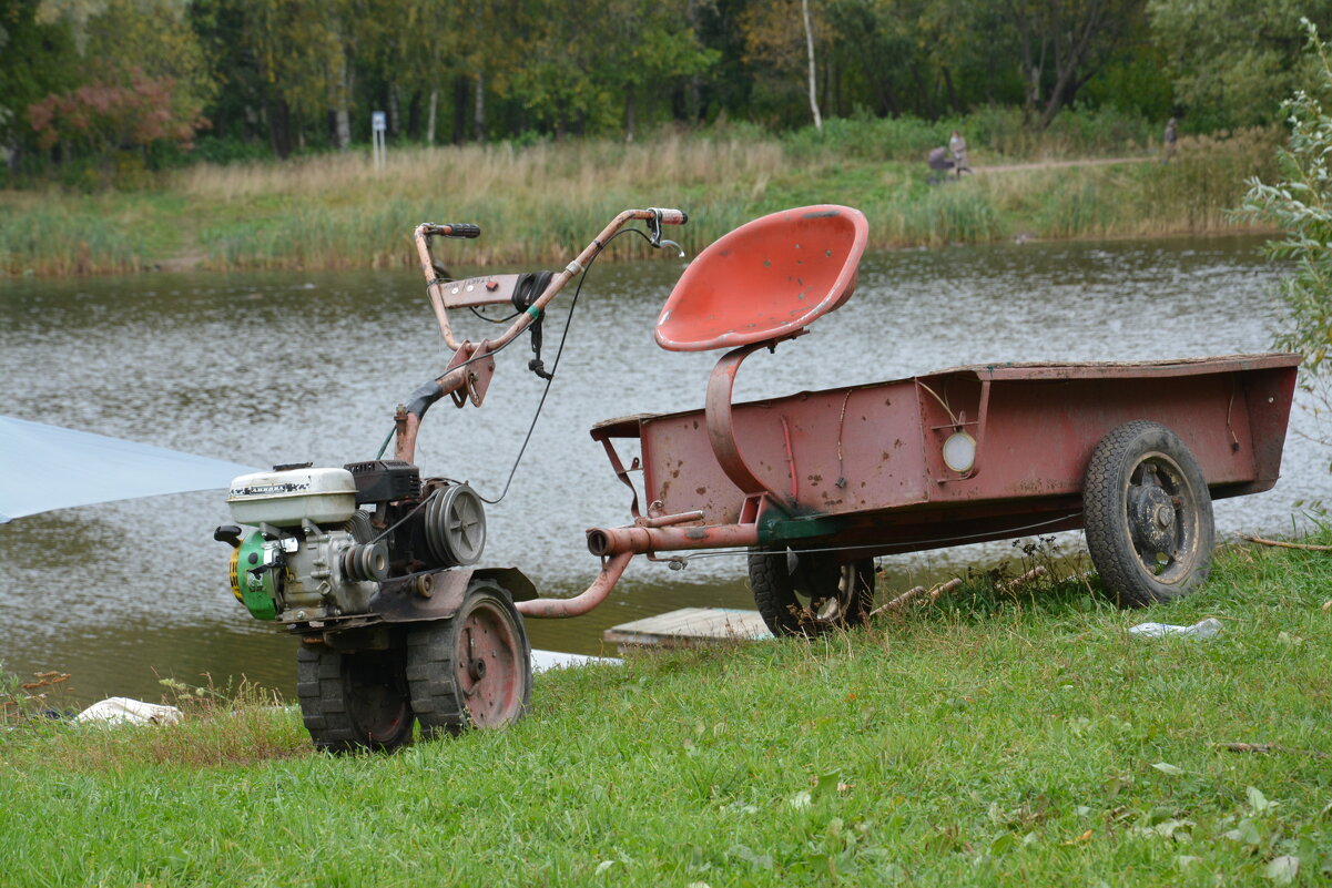
[[[1173,431],[1138,421],[1106,435],[1083,482],[1087,550],[1120,607],[1185,595],[1212,564],[1212,498]]]

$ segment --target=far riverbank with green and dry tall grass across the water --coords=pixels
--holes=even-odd
[[[453,248],[468,265],[563,262],[626,206],[686,209],[690,224],[671,237],[690,253],[763,213],[818,202],[863,210],[871,248],[1255,230],[1228,213],[1247,178],[1271,178],[1277,144],[1276,130],[1185,137],[1169,164],[1151,146],[1110,158],[980,146],[974,174],[940,181],[914,145],[874,152],[750,129],[409,148],[382,170],[361,153],[197,165],[137,190],[0,192],[0,274],[412,266],[422,221],[480,224],[478,241]],[[649,252],[615,245],[619,257]]]

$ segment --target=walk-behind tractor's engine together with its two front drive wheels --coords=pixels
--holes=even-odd
[[[531,648],[517,570],[472,567],[486,542],[481,498],[421,481],[405,461],[342,469],[276,466],[241,475],[232,592],[261,620],[301,636],[297,696],[316,746],[389,750],[526,711]]]

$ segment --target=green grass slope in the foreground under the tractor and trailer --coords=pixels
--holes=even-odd
[[[397,755],[313,754],[256,699],[25,723],[0,736],[4,881],[1325,884],[1327,554],[1228,549],[1203,591],[1134,612],[1067,572],[972,576],[815,643],[542,675],[511,730]],[[1203,616],[1224,631],[1126,634]]]

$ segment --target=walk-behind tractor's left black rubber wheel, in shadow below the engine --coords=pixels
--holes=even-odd
[[[412,740],[405,651],[342,652],[302,644],[296,694],[314,746],[332,752],[396,750]]]

